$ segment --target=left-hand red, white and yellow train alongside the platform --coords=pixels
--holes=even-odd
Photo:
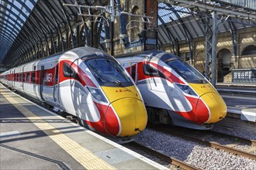
[[[123,137],[147,125],[144,101],[129,73],[107,53],[81,47],[1,73],[13,90],[78,117],[86,128]]]

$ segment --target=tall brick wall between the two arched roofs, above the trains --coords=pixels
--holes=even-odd
[[[152,26],[157,26],[157,1],[156,0],[130,0],[126,1],[126,8],[124,9],[124,2],[121,1],[121,6],[125,12],[133,13],[135,15],[145,15],[147,12],[147,16],[153,17],[150,19],[151,24],[145,24],[144,22],[134,22],[142,21],[140,17],[137,16],[127,16],[127,26],[126,26],[126,36],[130,40],[130,47],[124,48],[123,43],[120,43],[119,35],[120,35],[120,25],[119,19],[116,19],[114,26],[114,56],[124,54],[124,53],[135,53],[148,49],[156,49],[156,45],[147,44],[144,40],[140,41],[140,32],[146,30],[145,36],[147,39],[155,39],[157,38],[157,29],[152,29]],[[147,3],[147,8],[145,8],[144,4]],[[132,21],[133,22],[130,22]]]

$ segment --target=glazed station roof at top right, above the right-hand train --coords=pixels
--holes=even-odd
[[[206,27],[210,28],[213,23],[213,9],[217,11],[219,33],[256,27],[256,2],[253,0],[159,2],[157,36],[160,45],[170,43],[171,39],[189,41],[206,36]]]

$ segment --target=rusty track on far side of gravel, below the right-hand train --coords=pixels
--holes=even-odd
[[[162,132],[162,133],[165,133],[165,134],[174,135],[174,136],[176,136],[178,138],[183,138],[183,139],[188,140],[188,141],[195,141],[197,143],[209,146],[211,148],[217,148],[217,149],[221,149],[223,151],[228,151],[228,152],[230,152],[230,153],[232,153],[234,155],[240,155],[240,156],[243,156],[243,157],[251,158],[252,160],[256,160],[256,155],[254,155],[250,151],[242,151],[242,150],[237,149],[237,148],[232,148],[232,146],[236,145],[235,144],[236,142],[234,142],[233,145],[232,144],[230,144],[230,145],[220,145],[219,143],[217,143],[215,141],[207,141],[206,139],[203,139],[203,138],[197,138],[197,137],[189,135],[189,134],[183,134],[182,131],[179,131],[179,132],[173,131],[170,128],[161,128],[161,127],[154,127],[153,128],[153,127],[150,127],[149,129],[150,130],[154,130],[154,131],[159,131],[159,132]],[[219,134],[217,132],[213,132],[213,134],[225,135],[225,134]],[[231,136],[231,135],[227,135],[227,136],[230,136],[230,137],[233,137],[233,138],[237,138],[237,140],[241,140],[241,141],[245,141],[247,143],[250,143],[251,147],[255,148],[255,141],[251,141],[251,140],[245,139],[245,138],[234,137],[234,136]]]

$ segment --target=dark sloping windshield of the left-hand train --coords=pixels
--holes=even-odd
[[[126,74],[123,67],[112,59],[89,59],[85,64],[95,76],[99,85],[105,87],[129,87],[132,80]]]

